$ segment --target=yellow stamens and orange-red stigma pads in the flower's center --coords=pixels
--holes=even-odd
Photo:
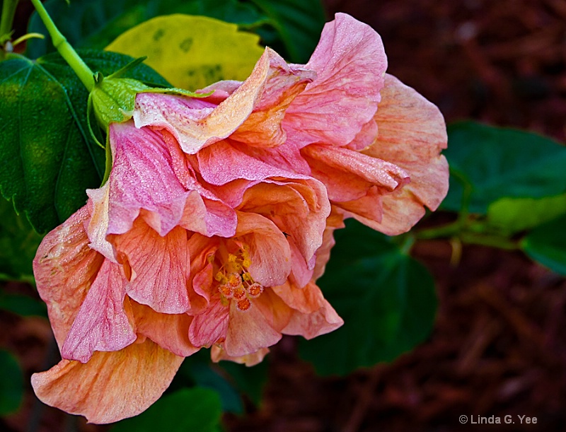
[[[263,292],[263,286],[255,282],[248,272],[251,265],[247,248],[238,250],[235,254],[228,255],[227,262],[219,269],[214,279],[219,282],[223,305],[229,305],[229,300],[236,302],[236,309],[245,312],[252,307],[252,298],[258,298]]]

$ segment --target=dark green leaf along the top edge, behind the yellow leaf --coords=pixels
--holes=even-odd
[[[246,27],[267,21],[256,6],[237,0],[73,0],[69,6],[60,0],[48,0],[45,8],[75,48],[103,49],[135,25],[172,13],[209,16]],[[47,35],[37,13],[33,14],[28,31]],[[49,37],[28,42],[30,57],[47,52],[54,52]]]

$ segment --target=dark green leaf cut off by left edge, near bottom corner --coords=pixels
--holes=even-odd
[[[16,358],[0,350],[0,416],[11,414],[18,410],[23,398],[23,373]]]

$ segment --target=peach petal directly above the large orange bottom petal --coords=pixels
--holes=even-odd
[[[131,304],[138,334],[178,356],[187,357],[199,350],[189,340],[189,315],[156,313],[137,302],[132,301]]]

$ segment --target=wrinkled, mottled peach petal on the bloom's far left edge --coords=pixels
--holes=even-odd
[[[59,349],[79,313],[104,257],[88,247],[82,207],[43,238],[33,260],[37,292],[45,303]]]

